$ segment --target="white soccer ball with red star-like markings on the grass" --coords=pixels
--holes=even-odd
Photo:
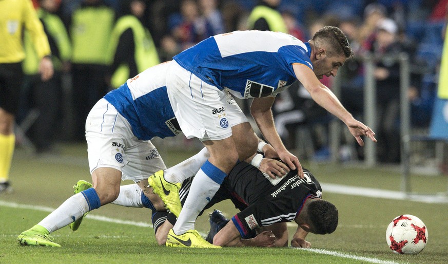
[[[425,248],[427,240],[425,224],[413,215],[400,215],[387,227],[387,245],[394,253],[418,254]]]

